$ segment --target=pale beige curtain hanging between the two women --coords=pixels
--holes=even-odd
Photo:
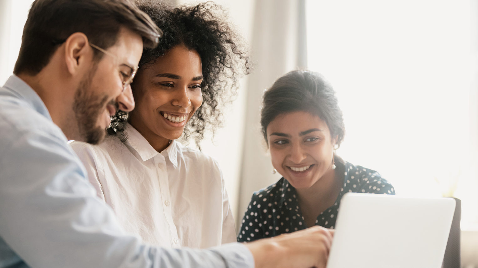
[[[262,94],[286,72],[306,66],[304,0],[256,0],[253,21],[250,44],[256,66],[247,83],[238,227],[252,193],[281,177],[272,174],[261,134]]]

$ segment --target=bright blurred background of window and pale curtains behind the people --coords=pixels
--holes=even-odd
[[[32,2],[0,0],[0,84]],[[261,137],[262,93],[307,68],[337,92],[346,127],[339,156],[378,171],[397,195],[460,198],[462,228],[478,230],[477,0],[215,2],[254,62],[224,127],[201,144],[222,168],[238,223],[252,193],[280,178]]]

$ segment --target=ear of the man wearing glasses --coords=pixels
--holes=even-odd
[[[87,36],[82,32],[71,34],[65,41],[65,64],[68,72],[78,72],[81,64],[92,57],[91,54]]]

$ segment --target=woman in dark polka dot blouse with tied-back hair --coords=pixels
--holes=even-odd
[[[342,112],[318,73],[293,71],[274,82],[264,93],[261,126],[273,172],[282,178],[252,195],[239,242],[314,225],[334,228],[347,192],[395,194],[376,171],[336,155],[345,133]]]

